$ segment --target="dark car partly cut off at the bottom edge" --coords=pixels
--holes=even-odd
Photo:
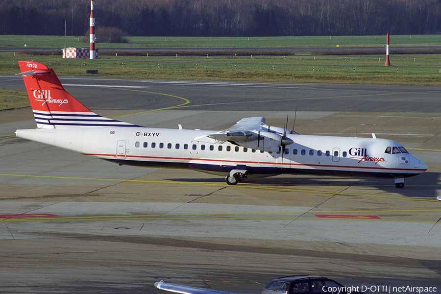
[[[262,294],[294,294],[294,293],[346,293],[364,294],[357,291],[360,287],[343,286],[342,284],[324,277],[309,275],[294,275],[272,280],[262,291]]]

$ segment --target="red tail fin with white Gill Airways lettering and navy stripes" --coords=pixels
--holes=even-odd
[[[99,116],[73,98],[52,69],[35,61],[19,61],[38,128],[65,126],[138,126]]]

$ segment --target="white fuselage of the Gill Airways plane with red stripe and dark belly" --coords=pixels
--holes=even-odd
[[[194,169],[248,177],[281,173],[405,178],[427,166],[402,145],[379,138],[288,134],[293,144],[269,152],[219,142],[212,130],[63,127],[17,130],[17,136],[123,165]]]

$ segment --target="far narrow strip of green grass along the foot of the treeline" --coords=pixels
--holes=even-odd
[[[335,47],[381,46],[386,36],[285,36],[285,37],[127,37],[128,43],[97,42],[97,48],[248,48],[248,47]],[[82,42],[85,40],[86,42]],[[441,35],[391,35],[391,46],[429,46],[441,44]],[[0,35],[0,47],[64,48],[64,36]],[[88,47],[84,36],[67,36],[67,47]]]

